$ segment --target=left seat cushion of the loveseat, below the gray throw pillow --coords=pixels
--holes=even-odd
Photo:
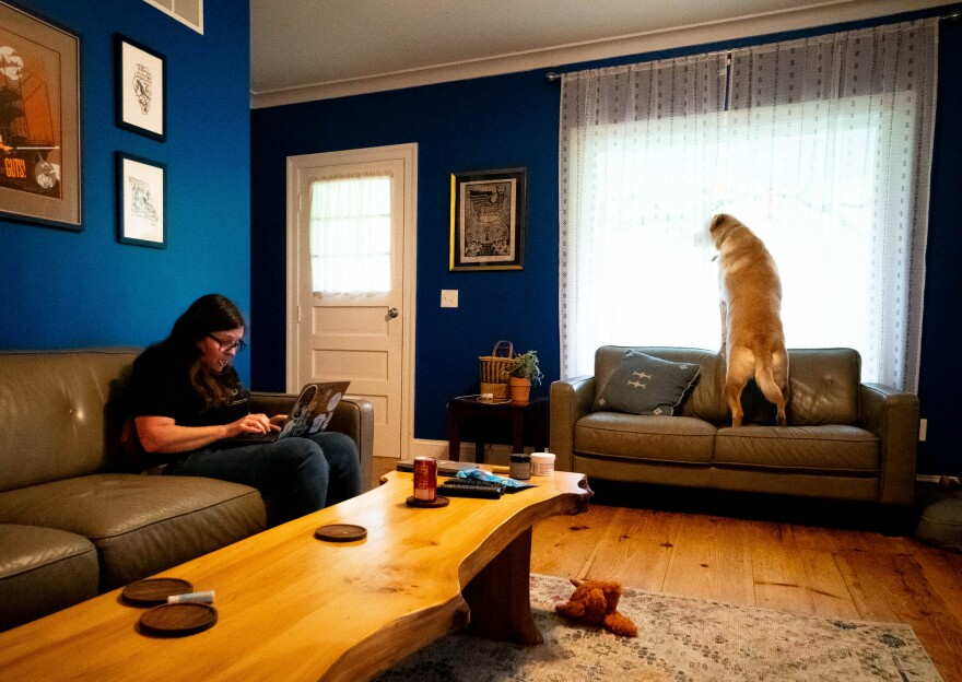
[[[575,423],[574,450],[600,457],[708,463],[715,427],[688,416],[594,412]]]

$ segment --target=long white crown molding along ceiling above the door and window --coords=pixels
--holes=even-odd
[[[816,26],[875,19],[946,4],[945,0],[831,0],[821,5],[678,26],[627,36],[601,38],[485,59],[437,64],[377,75],[316,83],[300,87],[250,92],[250,108],[331,99],[449,81],[558,68],[596,59],[643,55],[664,49],[705,45]]]

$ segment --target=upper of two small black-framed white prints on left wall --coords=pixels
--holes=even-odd
[[[167,60],[149,47],[114,34],[117,68],[117,126],[167,139]]]

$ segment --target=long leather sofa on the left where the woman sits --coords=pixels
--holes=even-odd
[[[0,631],[259,532],[253,487],[131,472],[120,447],[136,349],[0,352]],[[296,396],[254,393],[286,412]],[[374,416],[345,397],[328,428],[361,454],[371,485]]]

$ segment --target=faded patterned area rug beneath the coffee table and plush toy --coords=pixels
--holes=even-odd
[[[638,626],[623,638],[562,620],[564,578],[531,576],[544,643],[524,647],[453,634],[399,662],[378,682],[729,680],[941,682],[912,627],[738,607],[626,589],[619,611]]]

